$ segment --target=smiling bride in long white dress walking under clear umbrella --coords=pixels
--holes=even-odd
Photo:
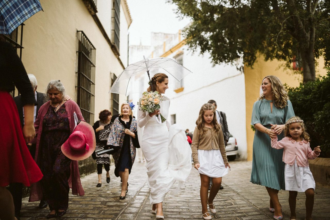
[[[151,83],[147,92],[153,91],[153,88],[160,94],[164,94],[169,88],[168,76],[164,73],[155,74],[151,78]],[[148,186],[150,188],[150,203],[152,204],[151,213],[156,214],[156,219],[164,219],[163,200],[177,179],[169,169],[169,161],[173,161],[173,158],[169,158],[168,147],[169,139],[171,140],[168,130],[170,128],[170,123],[166,120],[166,123],[159,124],[155,117],[158,114],[162,114],[164,118],[168,117],[170,99],[162,95],[159,105],[160,109],[152,113],[143,112],[139,109],[138,127],[144,127],[141,137],[141,149],[147,161]],[[174,147],[187,147],[191,154],[186,136],[184,135],[184,137],[185,138],[180,139],[180,143],[176,143]],[[179,151],[184,150],[185,149],[180,149]],[[176,176],[187,177],[191,170],[190,155],[188,155],[187,163],[182,165],[182,167],[187,167],[187,169],[177,169]]]

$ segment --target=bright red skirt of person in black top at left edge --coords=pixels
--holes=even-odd
[[[0,103],[0,186],[30,186],[43,174],[27,149],[14,99],[0,91]]]

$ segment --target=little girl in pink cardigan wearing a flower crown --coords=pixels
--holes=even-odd
[[[271,125],[272,129],[276,125]],[[314,205],[315,181],[309,168],[308,159],[320,155],[320,146],[312,151],[309,134],[306,132],[304,121],[294,116],[285,123],[284,138],[278,141],[277,136],[271,140],[271,146],[282,149],[285,163],[285,190],[289,190],[290,220],[296,220],[296,198],[298,192],[306,194],[306,220],[312,219]]]

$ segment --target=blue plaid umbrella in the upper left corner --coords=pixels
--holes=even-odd
[[[40,10],[39,0],[0,0],[0,34],[10,34]]]

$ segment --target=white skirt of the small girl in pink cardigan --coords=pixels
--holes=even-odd
[[[284,180],[285,190],[300,193],[311,188],[315,190],[315,181],[309,166],[298,166],[297,160],[294,161],[294,165],[285,164]]]

